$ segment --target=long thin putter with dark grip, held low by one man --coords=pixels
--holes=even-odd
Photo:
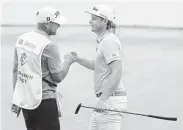
[[[89,108],[89,109],[97,109],[95,107],[89,107],[89,106],[83,106],[81,103],[76,108],[75,114],[78,114],[80,108]],[[132,115],[139,115],[139,116],[145,116],[145,117],[151,117],[156,119],[162,119],[162,120],[169,120],[169,121],[177,121],[177,117],[164,117],[164,116],[156,116],[156,115],[147,115],[147,114],[140,114],[140,113],[133,113],[133,112],[127,112],[127,111],[117,111],[117,110],[110,110],[110,109],[104,109],[105,111],[113,111],[113,112],[120,112],[125,114],[132,114]]]

